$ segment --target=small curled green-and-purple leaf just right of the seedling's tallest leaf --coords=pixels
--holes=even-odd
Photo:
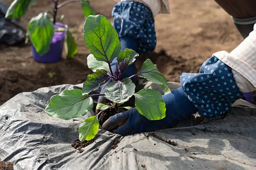
[[[136,60],[135,58],[138,56],[139,54],[132,49],[126,48],[125,51],[121,51],[117,57],[117,62],[119,64],[121,73],[123,73],[128,65],[131,65]]]

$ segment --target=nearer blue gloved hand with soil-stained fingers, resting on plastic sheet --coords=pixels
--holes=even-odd
[[[172,127],[179,120],[186,119],[197,111],[197,108],[189,101],[187,94],[181,87],[170,94],[163,95],[163,101],[166,103],[166,117],[161,120],[148,120],[136,108],[132,108],[111,116],[102,127],[123,136],[151,132]]]

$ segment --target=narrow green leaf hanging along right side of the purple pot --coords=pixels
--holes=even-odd
[[[72,58],[77,54],[76,41],[73,38],[69,29],[67,29],[67,36],[65,37],[65,51],[67,58]]]

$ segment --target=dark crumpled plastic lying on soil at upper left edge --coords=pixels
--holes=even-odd
[[[17,19],[6,19],[8,5],[0,2],[0,43],[15,45],[25,39],[24,29]]]

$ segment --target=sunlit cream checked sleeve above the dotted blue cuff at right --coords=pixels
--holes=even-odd
[[[213,55],[256,87],[256,24],[249,36],[233,51],[219,51]]]

